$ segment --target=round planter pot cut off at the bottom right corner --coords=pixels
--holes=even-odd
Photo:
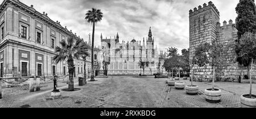
[[[241,108],[256,108],[256,95],[251,97],[249,98],[249,94],[241,96]]]

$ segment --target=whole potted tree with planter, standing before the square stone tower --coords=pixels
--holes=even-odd
[[[212,67],[212,88],[205,89],[205,98],[210,103],[218,103],[221,100],[221,90],[214,88],[215,69],[222,62],[222,45],[217,40],[211,44],[205,42],[199,45],[195,51],[195,60],[200,67],[210,65]]]

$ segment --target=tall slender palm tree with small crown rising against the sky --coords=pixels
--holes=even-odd
[[[94,79],[94,62],[93,62],[93,48],[94,48],[94,29],[95,23],[100,22],[103,17],[101,10],[97,10],[96,8],[92,8],[92,10],[88,10],[85,14],[85,20],[88,23],[93,24],[93,33],[92,33],[92,75],[90,76],[91,81],[95,81]]]

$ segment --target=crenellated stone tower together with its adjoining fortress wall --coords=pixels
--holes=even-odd
[[[208,5],[204,3],[203,7],[199,6],[189,10],[189,49],[190,59],[195,54],[195,48],[202,42],[211,42],[217,39],[224,45],[224,62],[216,69],[216,79],[219,81],[237,82],[238,77],[243,78],[247,74],[247,67],[241,66],[234,59],[236,55],[237,29],[232,20],[220,24],[220,12],[212,2]],[[204,66],[193,67],[195,78],[199,81],[212,80],[212,67]],[[255,70],[252,73],[255,78]]]

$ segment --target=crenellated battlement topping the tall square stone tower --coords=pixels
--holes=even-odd
[[[204,3],[203,7],[200,5],[200,6],[198,6],[198,8],[195,7],[193,10],[189,10],[189,17],[199,14],[200,12],[204,12],[209,9],[212,9],[218,17],[220,16],[220,12],[216,8],[216,6],[210,1],[210,2],[208,2],[208,5],[206,3]]]

